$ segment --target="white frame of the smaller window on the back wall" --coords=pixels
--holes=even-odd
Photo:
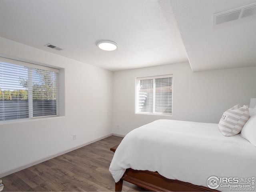
[[[146,77],[137,77],[136,78],[136,82],[135,82],[135,114],[150,114],[150,115],[162,115],[162,116],[172,116],[173,112],[171,112],[170,114],[168,113],[161,113],[161,112],[155,112],[155,103],[156,103],[156,83],[155,83],[155,79],[159,79],[159,78],[172,78],[172,101],[171,103],[173,103],[173,74],[167,74],[167,75],[158,75],[158,76],[146,76]],[[153,79],[153,112],[140,112],[138,110],[138,102],[139,102],[139,90],[140,90],[140,80],[150,80]],[[173,108],[172,108],[173,109]]]

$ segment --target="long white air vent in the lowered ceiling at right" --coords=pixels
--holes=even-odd
[[[256,3],[213,14],[212,26],[256,15]]]

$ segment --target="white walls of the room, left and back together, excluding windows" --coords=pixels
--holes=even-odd
[[[0,38],[0,54],[57,66],[60,79],[65,79],[60,82],[60,117],[0,123],[0,178],[112,132],[125,135],[157,119],[218,123],[226,109],[256,98],[256,67],[193,73],[188,63],[181,63],[118,71],[113,76],[110,71],[4,38]],[[173,74],[173,115],[135,114],[136,77],[162,74]]]

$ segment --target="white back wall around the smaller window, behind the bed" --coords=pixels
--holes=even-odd
[[[163,74],[173,74],[173,115],[135,114],[136,77]],[[255,84],[256,67],[192,72],[179,63],[114,72],[113,133],[126,135],[157,119],[218,123],[225,110],[256,98]]]

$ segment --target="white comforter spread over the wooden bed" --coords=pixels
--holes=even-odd
[[[156,120],[132,130],[118,146],[109,168],[115,182],[127,168],[207,187],[210,176],[256,176],[256,147],[240,134],[223,136],[218,124]]]

